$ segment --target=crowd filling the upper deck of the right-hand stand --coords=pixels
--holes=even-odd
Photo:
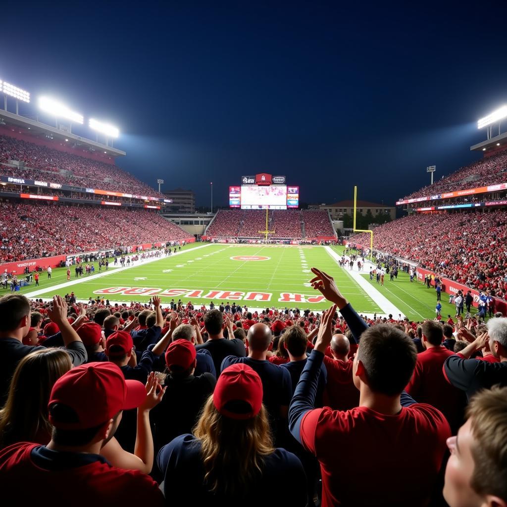
[[[433,185],[428,185],[403,199],[427,197],[504,182],[507,182],[507,152],[501,152],[461,167],[449,176],[438,179]]]

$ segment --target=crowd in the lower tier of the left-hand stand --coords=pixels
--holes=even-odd
[[[0,203],[0,234],[0,262],[189,237],[154,211],[12,202]]]

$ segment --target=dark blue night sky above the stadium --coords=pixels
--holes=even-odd
[[[110,120],[119,165],[197,204],[256,172],[393,203],[476,160],[507,103],[506,3],[408,4],[9,2],[0,79]]]

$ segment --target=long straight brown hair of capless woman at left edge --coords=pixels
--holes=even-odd
[[[0,410],[0,447],[15,442],[34,442],[47,432],[51,436],[48,402],[54,383],[72,368],[62,349],[36,350],[19,361]]]

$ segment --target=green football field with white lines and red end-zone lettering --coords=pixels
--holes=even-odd
[[[341,254],[343,247],[334,247],[334,250]],[[248,257],[262,260],[249,260]],[[65,268],[54,269],[51,280],[43,272],[39,287],[33,284],[22,287],[21,293],[31,298],[49,298],[74,292],[78,300],[100,296],[126,303],[148,302],[150,296],[158,294],[163,303],[181,299],[183,302],[190,300],[194,305],[208,305],[213,301],[218,306],[221,301],[236,301],[249,308],[322,310],[328,303],[308,283],[312,266],[332,274],[359,313],[383,313],[375,297],[367,294],[349,270],[340,268],[328,251],[319,246],[196,243],[187,245],[178,255],[123,270],[110,267],[107,272],[94,276],[83,275],[76,279],[74,267],[71,267],[70,282],[67,282]],[[361,276],[411,320],[434,317],[436,294],[432,288],[410,283],[405,273],[400,273],[392,282],[386,276],[383,287],[369,280],[368,271]],[[9,291],[2,290],[6,292]],[[447,300],[447,295],[443,294],[442,314],[454,315],[454,307]]]

